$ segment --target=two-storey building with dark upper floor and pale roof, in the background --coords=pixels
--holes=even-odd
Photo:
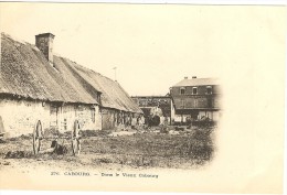
[[[174,123],[185,123],[188,119],[217,121],[221,117],[221,88],[216,78],[184,77],[170,88],[170,95]]]

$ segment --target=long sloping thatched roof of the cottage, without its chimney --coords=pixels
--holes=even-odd
[[[54,56],[54,67],[30,43],[1,33],[0,94],[23,98],[100,104],[103,107],[141,112],[128,94],[114,82],[67,58]],[[102,102],[96,97],[102,93]]]

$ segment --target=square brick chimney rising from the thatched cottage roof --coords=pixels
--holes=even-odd
[[[44,54],[46,59],[53,64],[53,41],[55,35],[43,33],[35,35],[35,45]]]

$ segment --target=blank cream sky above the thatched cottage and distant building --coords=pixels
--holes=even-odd
[[[276,35],[263,23],[268,8],[10,3],[0,11],[1,31],[14,37],[34,43],[51,32],[59,55],[113,79],[117,67],[131,96],[166,95],[184,76],[221,77]]]

